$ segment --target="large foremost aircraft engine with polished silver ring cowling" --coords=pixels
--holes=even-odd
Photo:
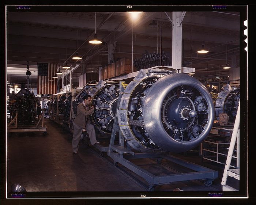
[[[211,130],[214,105],[200,81],[183,73],[140,70],[118,110],[120,130],[139,151],[185,152]]]

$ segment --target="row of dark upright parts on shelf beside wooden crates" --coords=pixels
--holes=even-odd
[[[172,60],[169,52],[162,51],[162,65],[172,66]],[[142,58],[133,60],[133,65],[139,71],[140,69],[151,68],[160,65],[161,54],[159,52],[145,53]]]

